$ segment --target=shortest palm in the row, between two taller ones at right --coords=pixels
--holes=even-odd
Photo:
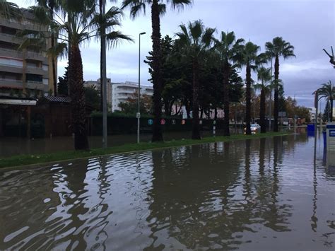
[[[261,126],[261,133],[266,132],[266,122],[265,122],[265,95],[266,92],[269,91],[269,85],[266,85],[266,83],[269,83],[271,81],[271,69],[270,68],[264,68],[260,67],[257,69],[257,78],[260,83],[257,85],[254,85],[254,88],[261,90],[261,102],[259,105],[259,120],[260,120],[260,126]]]

